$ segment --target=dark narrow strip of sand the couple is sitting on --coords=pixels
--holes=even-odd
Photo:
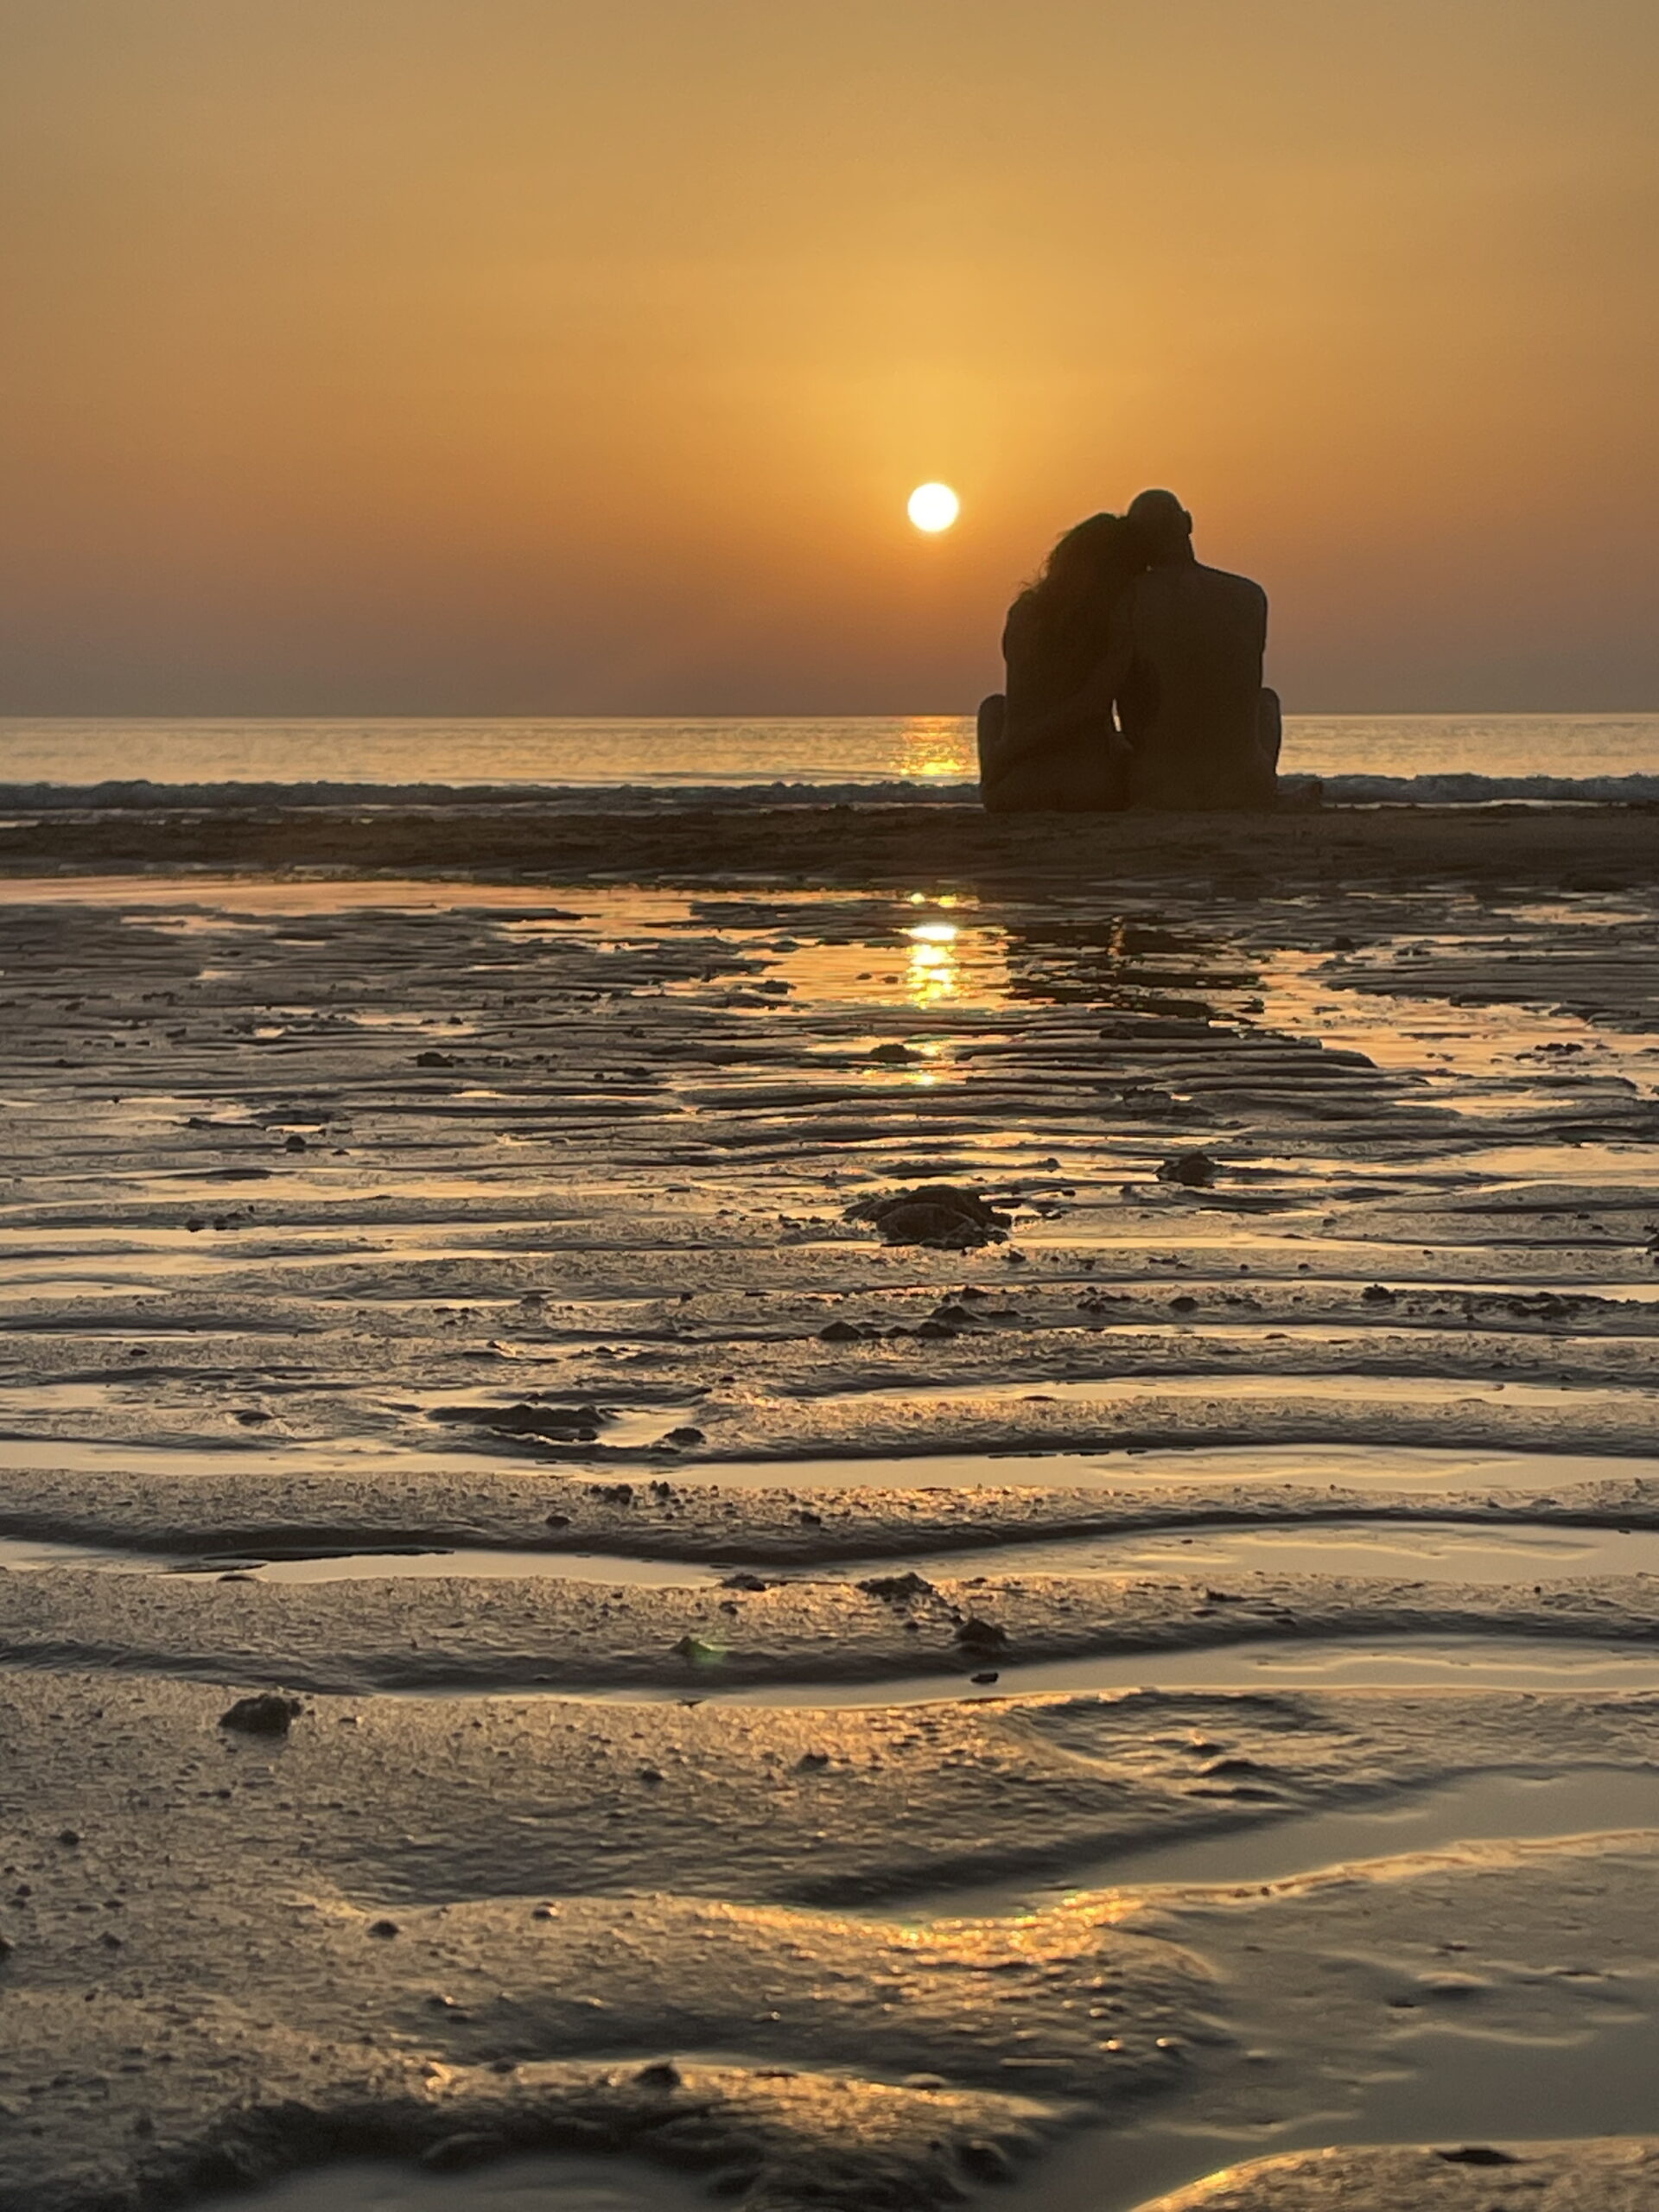
[[[1259,902],[1334,880],[1644,889],[1659,805],[1285,807],[1270,814],[989,816],[969,805],[588,812],[159,807],[0,823],[0,876],[316,869],[338,876],[772,887],[1203,885]]]

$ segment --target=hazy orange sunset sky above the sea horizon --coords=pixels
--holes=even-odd
[[[0,0],[0,710],[1659,708],[1659,0]],[[962,493],[942,540],[905,520]]]

